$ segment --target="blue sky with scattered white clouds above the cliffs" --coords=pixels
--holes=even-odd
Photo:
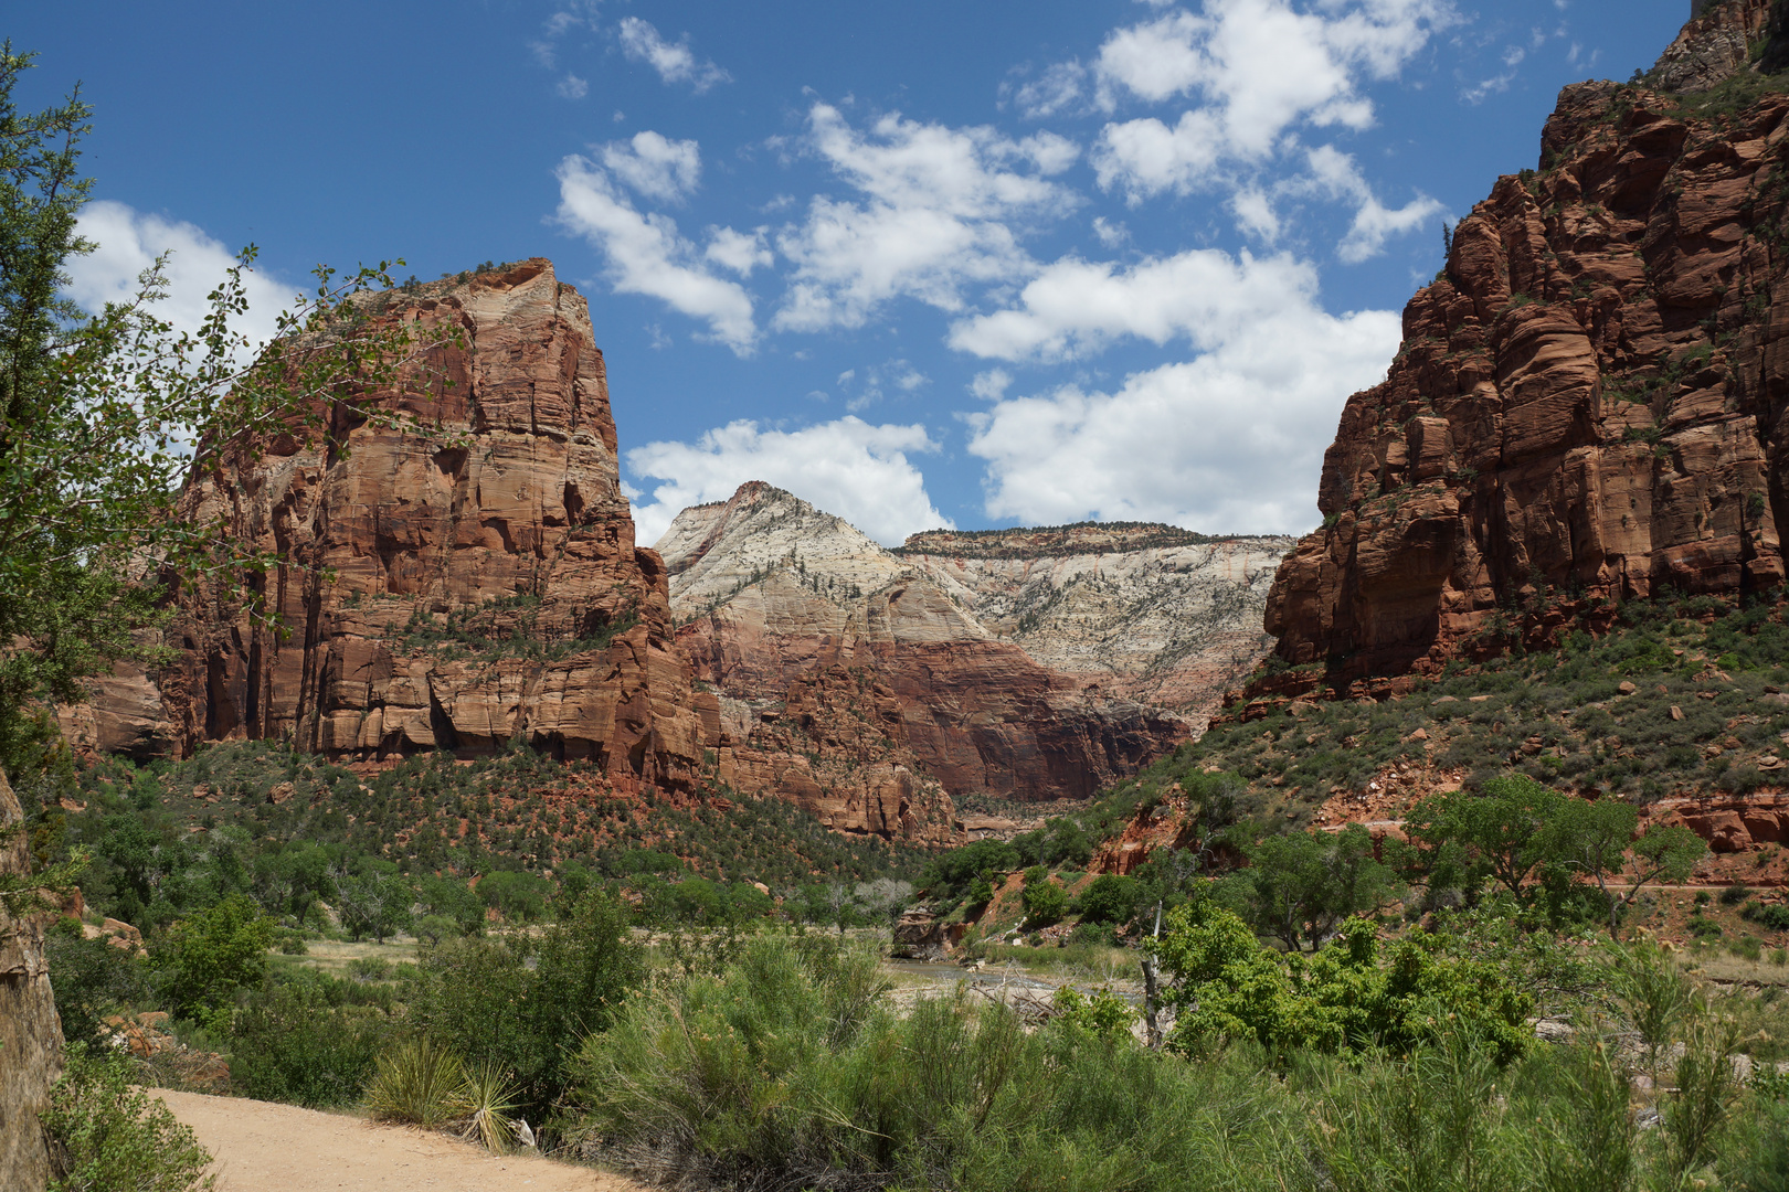
[[[590,298],[642,541],[782,484],[882,541],[1079,518],[1315,525],[1440,225],[1565,82],[1687,0],[97,0],[9,16],[81,80],[100,252],[186,316],[261,247],[553,257]]]

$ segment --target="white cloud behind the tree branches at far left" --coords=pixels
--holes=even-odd
[[[107,302],[129,302],[138,275],[166,252],[168,297],[156,306],[156,315],[175,331],[199,331],[209,309],[206,295],[236,264],[236,254],[204,229],[107,198],[81,209],[77,231],[98,247],[68,259],[68,297],[95,313]],[[233,325],[259,345],[274,336],[279,313],[292,306],[297,288],[259,270],[243,273],[243,288],[249,311]]]

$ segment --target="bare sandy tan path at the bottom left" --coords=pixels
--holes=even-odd
[[[646,1192],[538,1154],[496,1156],[442,1135],[292,1104],[152,1090],[216,1156],[218,1192]]]

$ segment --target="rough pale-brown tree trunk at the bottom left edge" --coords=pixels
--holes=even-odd
[[[25,813],[0,774],[0,874],[30,874]],[[13,915],[0,899],[0,1192],[41,1192],[50,1179],[38,1112],[63,1070],[63,1020],[43,954],[45,915]]]

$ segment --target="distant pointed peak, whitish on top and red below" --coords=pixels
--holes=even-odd
[[[767,484],[685,509],[658,547],[699,679],[775,701],[835,668],[861,676],[886,692],[887,740],[952,795],[1086,799],[1190,731],[1039,667],[968,611],[975,595],[948,572]]]

